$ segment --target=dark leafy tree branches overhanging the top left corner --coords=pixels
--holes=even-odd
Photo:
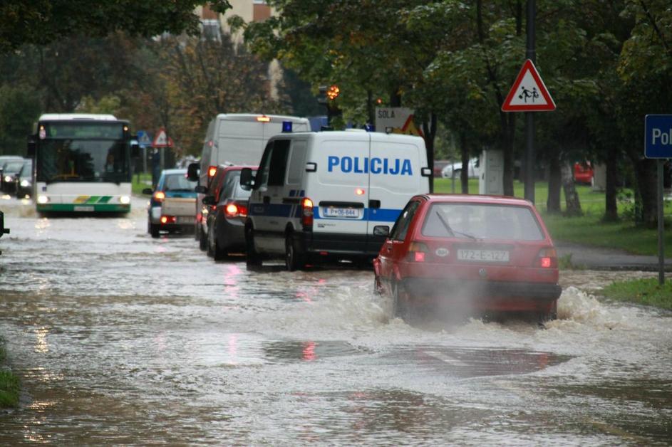
[[[0,53],[24,43],[46,45],[66,36],[197,34],[197,5],[224,12],[227,0],[5,0],[0,3]]]

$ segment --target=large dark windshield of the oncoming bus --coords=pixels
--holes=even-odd
[[[37,153],[38,182],[130,181],[128,144],[121,125],[46,127]]]

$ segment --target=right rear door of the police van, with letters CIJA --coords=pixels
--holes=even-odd
[[[385,241],[373,236],[373,227],[392,228],[408,200],[429,192],[429,181],[421,175],[427,167],[425,144],[420,137],[371,133],[369,152],[367,250],[378,252]]]

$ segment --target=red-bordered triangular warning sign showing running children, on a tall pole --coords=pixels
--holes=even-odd
[[[513,83],[502,112],[547,112],[555,110],[555,102],[534,63],[527,59]]]

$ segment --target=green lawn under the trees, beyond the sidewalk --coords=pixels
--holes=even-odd
[[[436,192],[453,192],[451,179],[434,179]],[[455,182],[455,191],[460,191],[460,182]],[[469,191],[478,194],[478,179],[470,179]],[[567,217],[562,214],[548,214],[546,201],[548,199],[547,182],[537,182],[534,188],[534,204],[542,214],[544,222],[555,241],[568,241],[588,246],[619,248],[634,254],[657,255],[658,232],[655,228],[636,226],[634,221],[624,216],[629,214],[631,203],[619,202],[619,216],[621,221],[604,222],[604,192],[593,191],[591,186],[577,185],[579,201],[583,216]],[[626,194],[631,191],[624,191]],[[524,184],[514,182],[514,195],[524,197]],[[564,192],[560,197],[564,209]],[[672,203],[665,202],[663,212],[669,217],[672,215]],[[672,256],[672,231],[667,229],[663,233],[665,253]]]

